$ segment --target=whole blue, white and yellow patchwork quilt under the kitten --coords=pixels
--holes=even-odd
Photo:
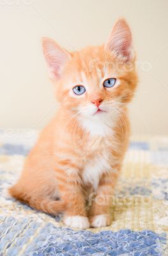
[[[111,207],[111,225],[75,230],[11,198],[38,132],[0,131],[0,255],[168,255],[168,138],[134,137]]]

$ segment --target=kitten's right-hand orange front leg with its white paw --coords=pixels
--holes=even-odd
[[[91,227],[105,227],[111,223],[110,207],[118,173],[102,175],[96,195],[89,197]]]

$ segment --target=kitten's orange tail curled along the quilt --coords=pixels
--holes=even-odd
[[[52,215],[66,211],[68,204],[61,200],[52,200],[48,198],[41,198],[41,196],[28,196],[19,191],[15,186],[9,189],[10,195],[17,198],[21,202],[29,204],[38,211],[43,211]]]

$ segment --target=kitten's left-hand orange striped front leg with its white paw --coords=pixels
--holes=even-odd
[[[88,228],[90,223],[87,218],[86,202],[84,193],[76,179],[76,175],[65,175],[64,172],[57,170],[59,193],[63,202],[68,204],[64,214],[64,223],[73,228]]]

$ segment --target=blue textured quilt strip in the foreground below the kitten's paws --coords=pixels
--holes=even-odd
[[[8,230],[8,223],[12,227],[10,230]],[[1,225],[0,252],[6,248],[6,255],[17,256],[27,243],[24,256],[122,254],[160,256],[162,245],[165,243],[164,234],[161,236],[151,230],[141,232],[127,229],[118,232],[105,230],[93,233],[88,230],[55,227],[52,223],[46,223],[45,226],[42,224],[44,223],[29,218],[22,220],[8,218],[8,221],[4,221],[4,225]],[[31,243],[28,243],[30,240]]]

